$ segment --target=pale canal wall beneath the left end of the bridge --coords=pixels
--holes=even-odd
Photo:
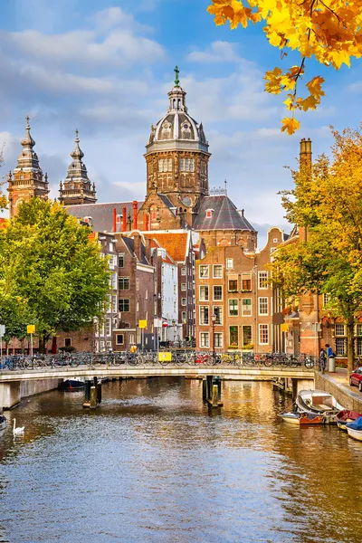
[[[62,382],[62,379],[38,379],[0,383],[0,413],[3,409],[12,409],[16,405],[19,405],[23,398],[58,388],[60,382]]]

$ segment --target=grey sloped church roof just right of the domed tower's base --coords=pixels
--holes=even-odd
[[[213,213],[206,217],[206,210]],[[195,230],[249,230],[255,232],[252,224],[238,212],[227,195],[204,196],[195,218]]]

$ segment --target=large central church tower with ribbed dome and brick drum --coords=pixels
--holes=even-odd
[[[166,115],[152,125],[146,146],[147,213],[151,230],[165,226],[159,205],[152,205],[152,194],[163,195],[164,202],[180,222],[192,226],[200,197],[208,195],[208,142],[202,123],[187,111],[186,91],[179,85],[175,68],[175,86],[168,92]],[[181,226],[182,224],[180,224]],[[170,227],[170,224],[166,225]]]

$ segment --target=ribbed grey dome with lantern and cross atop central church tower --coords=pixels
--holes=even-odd
[[[154,148],[155,144],[158,147],[157,143],[162,142],[162,148],[165,148],[167,143],[171,144],[177,141],[179,144],[177,147],[182,147],[184,142],[186,147],[190,148],[190,144],[194,143],[197,148],[207,152],[208,142],[205,138],[203,125],[188,114],[186,91],[179,86],[177,67],[175,71],[175,86],[168,92],[169,105],[167,113],[162,119],[158,120],[156,125],[151,126],[148,151],[150,147]]]

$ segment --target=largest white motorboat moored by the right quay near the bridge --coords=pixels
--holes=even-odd
[[[300,390],[295,403],[301,412],[323,414],[325,424],[336,424],[338,412],[344,410],[334,395],[324,390]]]

